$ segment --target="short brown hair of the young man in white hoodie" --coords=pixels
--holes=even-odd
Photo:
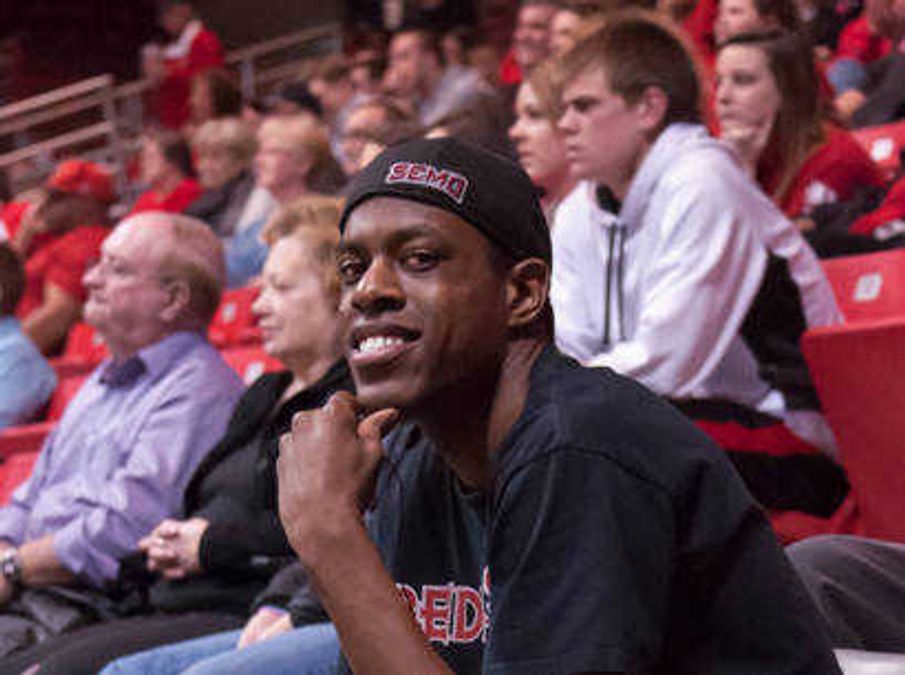
[[[629,103],[648,87],[668,99],[663,126],[701,121],[701,84],[693,52],[667,20],[653,12],[625,9],[562,57],[562,83],[601,68],[610,88]]]

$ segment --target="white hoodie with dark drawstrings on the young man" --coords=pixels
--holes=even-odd
[[[809,327],[841,321],[813,251],[732,151],[700,125],[670,125],[618,216],[598,206],[589,182],[557,210],[557,344],[663,396],[723,398],[787,418],[781,394],[759,377],[739,335],[768,253],[788,261]]]

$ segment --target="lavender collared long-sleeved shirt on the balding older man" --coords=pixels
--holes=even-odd
[[[144,367],[126,382],[101,381],[109,360],[88,377],[31,477],[0,509],[0,539],[19,545],[51,534],[60,562],[95,585],[114,578],[119,559],[178,514],[189,478],[242,391],[199,333],[175,333],[136,356]]]

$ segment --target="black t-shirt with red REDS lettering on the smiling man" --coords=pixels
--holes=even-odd
[[[728,460],[641,386],[547,349],[495,462],[469,492],[402,427],[371,521],[455,672],[839,672]]]

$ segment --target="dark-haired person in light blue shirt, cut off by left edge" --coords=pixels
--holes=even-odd
[[[57,384],[53,368],[15,317],[24,289],[19,256],[0,244],[0,429],[34,419]]]

